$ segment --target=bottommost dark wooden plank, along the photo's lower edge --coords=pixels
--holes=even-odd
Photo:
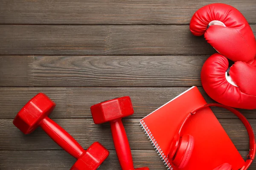
[[[240,150],[241,156],[246,159],[247,151]],[[148,166],[150,170],[166,170],[163,161],[154,150],[132,150],[134,167]],[[68,170],[76,162],[63,150],[55,151],[0,151],[0,167],[3,170]],[[120,170],[119,161],[114,151],[99,167],[99,170]],[[248,170],[256,170],[253,161]]]

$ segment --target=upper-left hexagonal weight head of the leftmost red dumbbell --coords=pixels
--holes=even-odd
[[[45,94],[39,93],[17,113],[13,124],[24,134],[32,133],[54,108],[55,103]]]

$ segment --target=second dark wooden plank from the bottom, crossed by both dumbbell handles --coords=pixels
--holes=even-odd
[[[107,149],[114,150],[110,124],[95,125],[92,119],[53,119],[70,133],[82,147],[87,148],[99,141]],[[123,119],[125,131],[132,150],[154,150],[139,125],[140,119]],[[239,150],[249,150],[247,131],[239,119],[219,119],[230,139]],[[256,119],[249,119],[256,130]],[[60,150],[61,148],[38,128],[24,135],[12,124],[12,119],[0,119],[0,150]]]

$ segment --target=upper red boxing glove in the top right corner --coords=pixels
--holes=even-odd
[[[208,29],[207,29],[208,28]],[[256,41],[244,16],[234,7],[213,3],[200,8],[190,21],[190,31],[205,39],[232,61],[253,62]]]

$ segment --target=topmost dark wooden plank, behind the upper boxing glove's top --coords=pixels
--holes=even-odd
[[[236,7],[256,23],[254,0],[1,0],[4,24],[188,24],[209,3]]]

